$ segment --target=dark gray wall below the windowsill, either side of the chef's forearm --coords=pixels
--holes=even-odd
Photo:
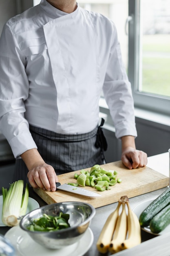
[[[135,139],[136,148],[147,153],[148,157],[168,152],[170,148],[170,126],[158,124],[141,118],[136,118],[138,136]],[[105,152],[106,162],[121,159],[121,142],[116,139],[113,129],[104,128],[108,141],[108,150]]]

